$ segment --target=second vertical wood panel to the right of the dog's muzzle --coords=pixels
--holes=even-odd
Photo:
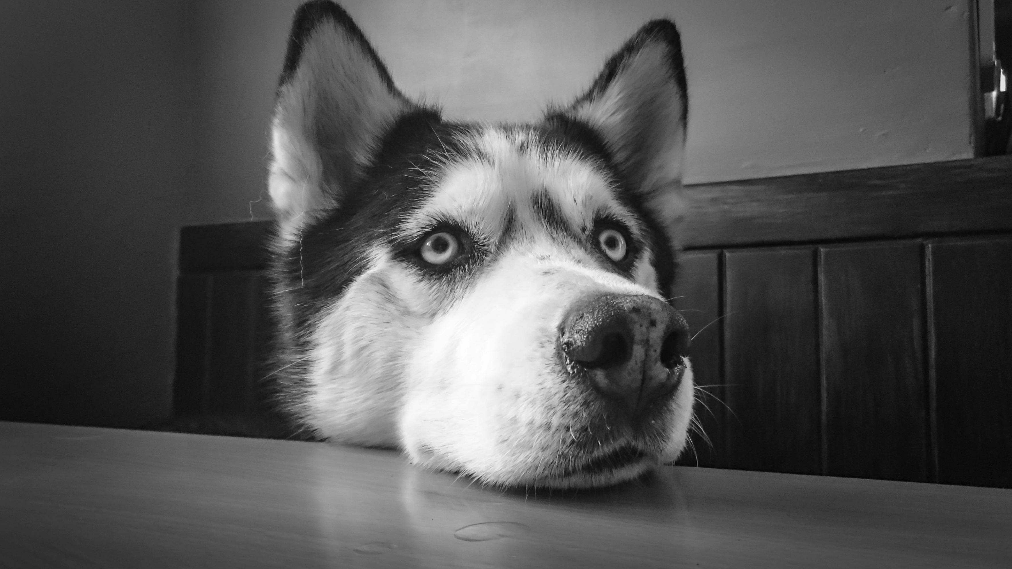
[[[821,472],[815,251],[725,258],[728,466]]]

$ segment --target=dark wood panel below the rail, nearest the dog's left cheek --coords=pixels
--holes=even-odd
[[[212,280],[210,384],[207,410],[244,412],[249,408],[254,369],[255,287],[257,272],[226,271]]]

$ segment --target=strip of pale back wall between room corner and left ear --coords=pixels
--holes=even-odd
[[[264,181],[277,76],[291,0],[198,0],[192,20],[195,60],[192,184],[187,224],[271,215]]]

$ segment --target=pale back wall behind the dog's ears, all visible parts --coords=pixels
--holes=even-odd
[[[266,127],[299,2],[197,4],[192,222],[265,218]],[[514,0],[343,5],[400,87],[449,117],[526,120],[644,22],[682,31],[687,183],[971,158],[969,0]],[[254,203],[250,203],[254,201]]]

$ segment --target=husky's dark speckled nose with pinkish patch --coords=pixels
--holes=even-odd
[[[593,388],[634,415],[667,401],[681,383],[689,348],[685,318],[646,295],[602,294],[563,318],[560,345]]]

